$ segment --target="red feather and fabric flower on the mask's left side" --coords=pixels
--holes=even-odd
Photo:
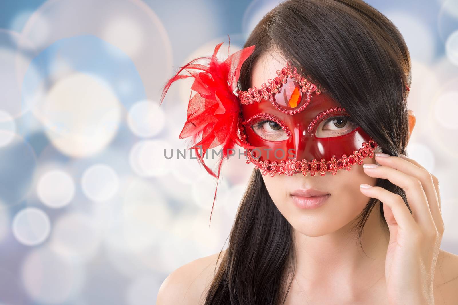
[[[167,81],[159,102],[159,105],[162,104],[169,87],[174,81],[194,77],[191,90],[197,93],[189,101],[187,120],[179,138],[191,138],[193,145],[189,149],[195,150],[197,161],[204,166],[210,175],[217,178],[210,222],[215,206],[221,166],[224,159],[228,158],[229,150],[233,149],[235,144],[243,148],[255,148],[241,142],[239,139],[240,100],[234,94],[240,76],[240,68],[243,62],[253,53],[255,46],[244,48],[221,62],[216,58],[216,54],[223,43],[219,43],[215,47],[213,56],[199,57],[180,67],[176,75]],[[206,59],[207,64],[195,64],[199,59]],[[189,75],[180,74],[183,70],[188,72]],[[197,70],[199,72],[188,70]],[[221,159],[218,161],[218,171],[215,173],[205,164],[203,157],[207,150],[219,145],[222,145],[222,153]],[[199,149],[202,151],[202,155],[199,153]]]

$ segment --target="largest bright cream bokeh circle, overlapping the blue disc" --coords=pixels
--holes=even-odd
[[[103,79],[78,72],[56,81],[33,113],[58,150],[83,157],[111,142],[119,128],[121,107]]]

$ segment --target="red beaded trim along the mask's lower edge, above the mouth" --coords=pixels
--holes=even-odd
[[[241,117],[239,119],[239,133],[240,140],[246,144],[249,144],[246,141],[245,127],[241,124]],[[351,166],[354,164],[363,164],[363,159],[365,157],[373,158],[374,150],[377,148],[376,142],[371,139],[369,143],[363,142],[362,147],[359,150],[354,150],[352,155],[342,155],[342,158],[336,159],[336,155],[333,155],[331,161],[326,161],[322,158],[320,161],[313,159],[307,161],[302,159],[301,161],[296,158],[288,159],[287,161],[282,160],[280,163],[273,161],[272,163],[269,160],[260,161],[251,155],[249,149],[245,149],[245,155],[247,156],[246,163],[253,163],[256,169],[259,169],[262,175],[269,174],[270,177],[275,176],[275,174],[285,176],[292,176],[296,173],[302,172],[302,175],[306,176],[307,173],[310,173],[311,176],[319,173],[321,176],[326,175],[327,172],[331,172],[333,175],[337,174],[338,170],[345,169],[349,171]]]

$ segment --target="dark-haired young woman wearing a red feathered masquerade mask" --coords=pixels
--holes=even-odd
[[[180,136],[196,134],[196,113],[225,122],[200,129],[213,144],[236,124],[240,142],[218,144],[244,146],[255,169],[227,250],[171,273],[157,304],[458,304],[437,178],[405,156],[410,59],[393,23],[358,0],[289,0],[240,52],[232,104],[221,66],[187,65],[213,77],[193,75]]]

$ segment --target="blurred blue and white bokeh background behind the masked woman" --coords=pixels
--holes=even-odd
[[[408,152],[439,178],[442,249],[458,253],[458,1],[367,2],[409,46]],[[163,153],[188,147],[191,82],[158,98],[277,4],[0,1],[0,304],[151,305],[174,269],[227,246],[252,165],[225,163],[209,225],[215,180]]]

